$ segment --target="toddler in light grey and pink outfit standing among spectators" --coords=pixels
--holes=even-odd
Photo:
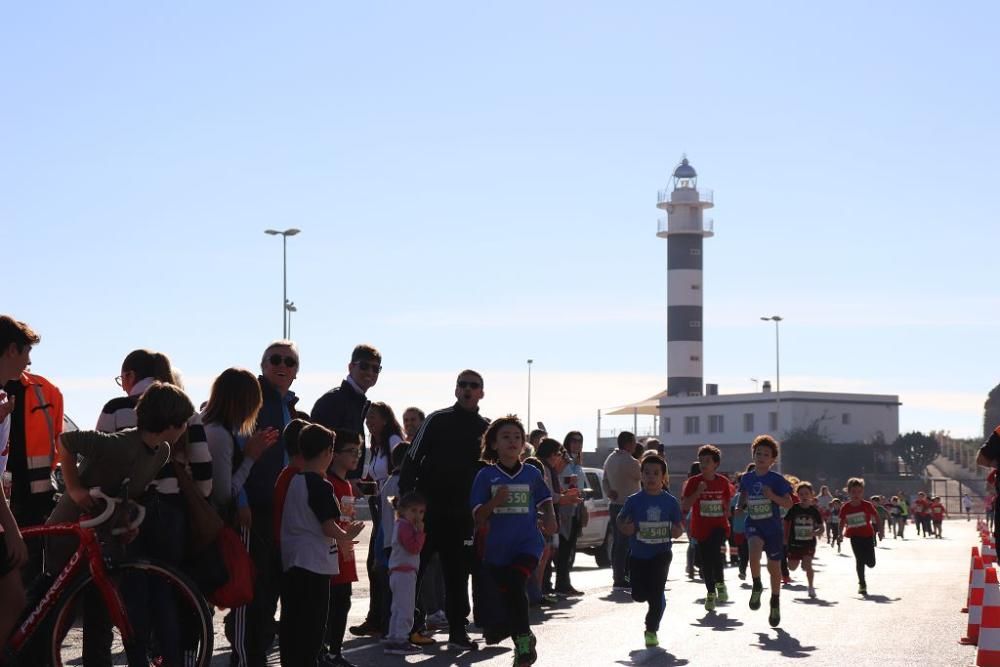
[[[389,555],[389,590],[392,591],[392,615],[389,619],[385,652],[391,655],[419,653],[420,647],[409,642],[413,626],[413,608],[417,599],[417,570],[420,550],[424,548],[424,513],[427,501],[411,491],[396,501],[396,524],[392,529],[392,552]]]

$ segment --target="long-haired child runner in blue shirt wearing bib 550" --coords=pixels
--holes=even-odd
[[[482,459],[492,465],[476,474],[469,497],[476,524],[489,524],[484,560],[488,575],[505,597],[515,667],[538,659],[525,590],[544,545],[536,513],[542,513],[547,534],[557,530],[552,495],[542,473],[521,463],[524,439],[524,426],[513,415],[489,425],[483,434]]]

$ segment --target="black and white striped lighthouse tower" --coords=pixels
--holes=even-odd
[[[656,207],[667,212],[656,235],[667,239],[667,394],[701,396],[702,240],[712,236],[712,193],[698,192],[698,174],[687,158],[674,169],[673,189],[660,190]]]

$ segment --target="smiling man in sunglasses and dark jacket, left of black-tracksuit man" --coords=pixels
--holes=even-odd
[[[378,382],[382,372],[382,355],[371,345],[358,345],[351,353],[347,377],[319,397],[313,406],[312,420],[330,430],[347,429],[361,434],[361,460],[358,467],[347,474],[348,479],[358,479],[365,469],[365,415],[372,402],[368,390]]]

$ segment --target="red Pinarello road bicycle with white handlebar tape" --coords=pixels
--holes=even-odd
[[[105,555],[94,529],[111,519],[117,507],[126,502],[127,495],[123,492],[121,498],[112,498],[100,489],[91,489],[91,495],[106,503],[100,515],[80,523],[32,526],[21,530],[25,539],[75,536],[79,543],[41,599],[29,606],[24,620],[7,642],[3,655],[0,656],[0,664],[20,664],[18,656],[28,646],[32,647],[28,652],[36,660],[42,659],[41,656],[46,661],[51,660],[47,664],[56,667],[68,663],[78,664],[84,641],[84,607],[89,603],[92,608],[94,602],[103,605],[110,619],[110,623],[98,624],[98,632],[95,634],[101,635],[96,641],[102,645],[103,650],[110,647],[112,664],[130,664],[135,667],[137,651],[142,656],[140,664],[169,664],[160,650],[163,638],[156,636],[157,623],[144,623],[150,627],[137,629],[136,624],[129,619],[130,608],[133,615],[141,611],[144,617],[163,611],[148,606],[140,610],[138,605],[145,601],[130,599],[132,595],[129,591],[154,583],[162,584],[163,589],[169,590],[172,599],[176,601],[176,616],[172,618],[182,626],[182,646],[174,646],[172,650],[180,650],[182,663],[186,666],[207,667],[212,658],[214,638],[212,615],[197,586],[184,574],[164,563],[147,559],[117,559]],[[131,502],[129,505],[135,507],[136,518],[127,526],[112,529],[112,535],[134,530],[142,523],[145,508]],[[85,566],[87,571],[83,571]],[[170,613],[173,614],[174,610],[171,609]],[[44,628],[45,632],[39,633],[40,628]],[[39,636],[35,636],[36,634]],[[91,638],[91,641],[95,640]],[[131,662],[130,655],[133,658]]]

